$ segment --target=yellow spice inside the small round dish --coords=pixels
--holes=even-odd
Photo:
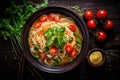
[[[90,61],[93,64],[98,64],[102,61],[102,53],[99,51],[94,51],[90,54]]]

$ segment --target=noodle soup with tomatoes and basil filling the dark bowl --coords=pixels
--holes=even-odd
[[[28,37],[31,54],[49,66],[65,65],[81,51],[83,37],[75,22],[67,16],[49,13],[33,23]]]

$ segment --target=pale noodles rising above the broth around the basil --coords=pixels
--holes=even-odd
[[[74,21],[71,18],[69,18],[69,17],[67,17],[67,18],[66,17],[62,17],[60,19],[60,22],[57,22],[57,23],[55,21],[49,21],[49,20],[45,21],[39,29],[35,29],[34,28],[34,24],[33,24],[33,26],[30,29],[29,37],[28,37],[28,43],[30,45],[31,52],[33,54],[39,54],[38,51],[34,50],[35,45],[39,45],[40,46],[39,52],[43,52],[44,51],[44,48],[46,47],[46,39],[44,37],[44,32],[48,28],[53,28],[55,26],[56,27],[64,26],[65,27],[64,36],[66,37],[67,40],[69,40],[70,37],[73,37],[72,46],[75,45],[75,37],[73,35],[73,32],[67,27],[71,23],[75,24]],[[39,34],[40,31],[44,31],[43,34]],[[66,53],[64,51],[63,54],[58,54],[58,56],[61,57],[61,59],[62,59],[65,56],[65,54]],[[49,54],[47,54],[47,56],[51,57],[51,55],[49,55]],[[47,65],[52,65],[52,63],[48,63],[47,60],[44,60],[44,62]]]

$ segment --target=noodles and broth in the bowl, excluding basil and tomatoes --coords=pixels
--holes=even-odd
[[[66,64],[68,62],[71,62],[76,56],[71,57],[69,54],[67,54],[67,52],[65,51],[65,45],[67,45],[68,43],[77,51],[77,54],[80,52],[81,50],[81,46],[78,46],[76,44],[76,40],[80,41],[82,43],[82,35],[80,30],[78,29],[77,25],[74,23],[74,21],[66,16],[60,15],[61,17],[59,22],[56,21],[51,21],[49,19],[47,19],[46,21],[42,22],[42,24],[40,25],[39,28],[35,28],[36,27],[36,23],[39,23],[39,18],[33,23],[30,32],[29,32],[29,37],[28,37],[28,43],[30,46],[30,50],[32,55],[40,55],[42,53],[44,53],[46,55],[46,58],[44,58],[44,60],[41,58],[41,56],[39,56],[38,61],[46,64],[46,65],[50,65],[50,66],[54,66],[56,65],[55,61],[56,59],[60,58],[60,62],[57,65],[63,65]],[[70,28],[68,27],[70,24],[74,24],[76,26],[76,32],[79,34],[79,37],[74,35],[74,32],[72,30],[70,30]],[[47,43],[47,39],[46,36],[44,35],[45,32],[48,29],[54,29],[54,27],[57,27],[58,29],[63,27],[65,28],[64,34],[63,36],[65,37],[65,39],[67,40],[67,42],[64,43],[64,51],[60,52],[61,50],[59,49],[59,47],[56,46],[56,44],[52,44],[50,46],[48,46],[48,51],[45,51],[46,48],[46,43]],[[49,34],[48,34],[49,35]],[[72,38],[72,41],[69,42],[70,38]],[[35,49],[35,46],[38,46],[38,50]],[[50,54],[50,48],[51,46],[55,46],[58,50],[57,55],[52,55]],[[48,52],[48,53],[47,53]]]

